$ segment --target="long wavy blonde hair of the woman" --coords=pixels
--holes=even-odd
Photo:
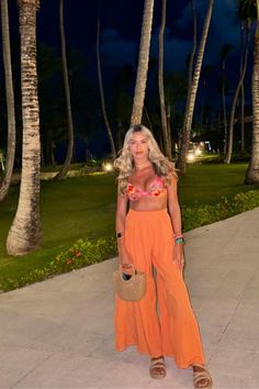
[[[131,126],[126,132],[124,144],[120,151],[120,156],[114,160],[113,167],[119,170],[119,176],[116,178],[119,184],[119,193],[123,196],[125,192],[128,177],[134,174],[135,165],[134,159],[130,152],[130,142],[132,135],[136,132],[140,132],[147,137],[148,144],[148,160],[153,164],[154,170],[157,176],[161,177],[166,186],[170,185],[171,176],[177,176],[174,164],[171,163],[159,149],[159,146],[154,138],[153,133],[145,125],[138,124]]]

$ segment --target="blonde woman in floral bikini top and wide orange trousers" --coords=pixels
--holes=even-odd
[[[125,269],[133,264],[147,275],[147,292],[140,301],[115,297],[115,347],[136,345],[140,354],[150,355],[153,378],[166,376],[164,357],[171,356],[180,368],[192,366],[195,388],[212,388],[182,278],[184,238],[173,164],[159,151],[151,132],[135,125],[127,131],[114,167],[120,171],[120,264]]]

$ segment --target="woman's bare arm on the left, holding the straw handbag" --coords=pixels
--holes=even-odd
[[[117,253],[119,262],[121,265],[131,263],[130,255],[125,248],[125,218],[127,211],[127,196],[120,194],[117,190],[117,205],[116,205],[116,233],[121,233],[122,236],[117,237]]]

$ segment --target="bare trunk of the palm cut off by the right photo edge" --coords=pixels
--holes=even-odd
[[[251,158],[246,171],[245,184],[259,182],[259,9],[255,35],[252,70],[252,119]]]

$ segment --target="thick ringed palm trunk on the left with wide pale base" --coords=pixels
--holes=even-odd
[[[19,0],[23,148],[18,210],[7,240],[9,255],[23,255],[41,244],[40,113],[36,68],[36,11],[40,0]]]

